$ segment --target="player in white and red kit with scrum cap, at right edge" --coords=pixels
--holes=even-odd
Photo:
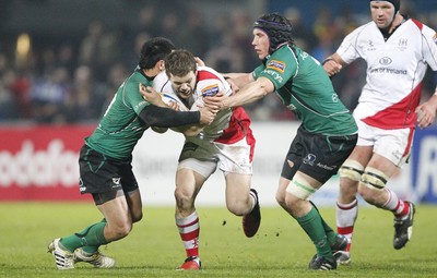
[[[351,244],[359,193],[369,204],[393,213],[397,250],[412,235],[415,208],[386,183],[408,160],[416,123],[432,124],[437,109],[437,92],[420,105],[427,67],[437,71],[436,32],[399,9],[400,0],[370,1],[373,21],[347,35],[323,62],[330,76],[358,58],[367,62],[366,85],[354,110],[358,142],[340,170],[338,231]],[[351,262],[350,249],[336,254],[339,263]]]

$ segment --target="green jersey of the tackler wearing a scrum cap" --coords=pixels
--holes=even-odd
[[[357,132],[355,120],[341,102],[323,67],[298,47],[285,45],[253,71],[269,78],[276,95],[302,121],[305,130],[326,135]]]

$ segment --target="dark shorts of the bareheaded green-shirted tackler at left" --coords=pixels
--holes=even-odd
[[[125,193],[138,189],[132,172],[132,157],[126,160],[105,156],[83,145],[79,156],[80,191],[106,193],[122,190]]]

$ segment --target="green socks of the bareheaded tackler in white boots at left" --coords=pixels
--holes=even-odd
[[[105,226],[106,220],[94,223],[83,231],[62,238],[60,242],[67,250],[71,252],[74,252],[74,250],[83,246],[97,246],[98,249],[99,245],[108,243],[104,235]],[[93,253],[88,251],[85,252]]]

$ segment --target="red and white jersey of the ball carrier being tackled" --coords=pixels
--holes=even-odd
[[[178,99],[165,72],[160,73],[154,78],[153,87],[157,92],[169,94]],[[203,96],[215,95],[218,92],[231,95],[232,88],[215,70],[208,67],[199,67],[193,99],[190,101],[192,105],[187,107],[188,110],[197,110],[199,105],[203,105]],[[224,109],[216,114],[214,121],[205,126],[198,136],[208,141],[232,144],[243,140],[247,132],[250,132],[249,125],[250,118],[243,107]]]

